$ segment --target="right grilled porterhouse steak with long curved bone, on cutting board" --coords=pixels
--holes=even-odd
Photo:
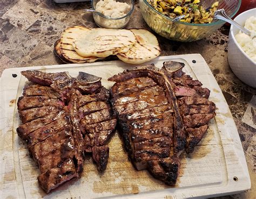
[[[210,91],[183,67],[167,61],[161,70],[148,65],[109,78],[116,82],[111,104],[134,166],[171,185],[177,180],[180,153],[193,152],[215,115]]]

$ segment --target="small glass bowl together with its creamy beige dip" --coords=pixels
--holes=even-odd
[[[102,28],[122,29],[129,22],[134,9],[133,0],[92,0],[95,23]]]

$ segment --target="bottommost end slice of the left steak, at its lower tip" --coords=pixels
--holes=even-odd
[[[56,167],[49,169],[38,176],[39,186],[49,193],[61,184],[78,177],[75,164],[72,159],[59,163]]]

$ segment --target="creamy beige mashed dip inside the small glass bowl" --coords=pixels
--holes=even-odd
[[[103,0],[96,4],[96,11],[103,13],[103,15],[111,18],[124,17],[131,10],[131,5],[123,2],[116,2],[115,0]],[[105,28],[119,29],[126,25],[127,19],[105,19],[96,17],[96,23]]]

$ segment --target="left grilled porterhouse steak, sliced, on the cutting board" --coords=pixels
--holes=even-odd
[[[23,71],[31,82],[17,106],[22,125],[18,135],[26,140],[38,164],[40,186],[49,193],[83,172],[85,153],[92,153],[100,172],[109,157],[107,140],[117,120],[109,104],[109,91],[100,78],[79,72]]]

